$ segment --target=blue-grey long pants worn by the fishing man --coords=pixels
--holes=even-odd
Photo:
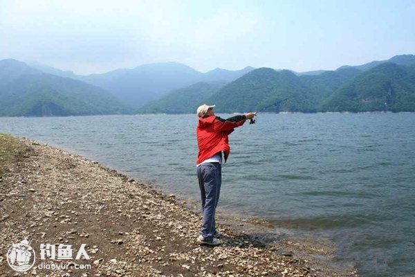
[[[221,193],[221,164],[202,163],[196,171],[202,199],[203,222],[201,235],[205,240],[212,240],[216,231],[214,213],[219,202],[219,193]]]

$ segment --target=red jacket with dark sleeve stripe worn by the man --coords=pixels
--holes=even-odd
[[[219,116],[199,118],[196,128],[199,155],[196,164],[221,151],[224,153],[226,162],[230,153],[228,135],[233,132],[234,128],[243,125],[245,120],[246,116],[233,116],[226,120]]]

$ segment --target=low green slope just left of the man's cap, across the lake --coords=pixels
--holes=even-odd
[[[226,82],[197,82],[171,91],[141,107],[140,114],[191,114]]]

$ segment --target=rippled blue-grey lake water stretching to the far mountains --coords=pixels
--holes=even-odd
[[[220,116],[227,117],[230,115]],[[194,115],[0,118],[49,143],[199,199]],[[329,236],[362,276],[415,274],[415,114],[259,114],[230,135],[219,206]]]

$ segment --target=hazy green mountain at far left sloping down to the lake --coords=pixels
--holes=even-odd
[[[0,116],[71,116],[131,111],[107,91],[45,74],[16,60],[0,61]]]

